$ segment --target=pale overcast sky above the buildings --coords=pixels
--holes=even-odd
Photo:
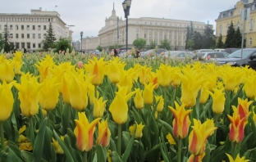
[[[239,0],[132,0],[130,18],[156,17],[200,21],[214,26],[219,12],[235,6]],[[84,36],[98,36],[105,19],[112,15],[113,2],[117,16],[124,19],[123,0],[0,0],[0,13],[30,13],[31,9],[57,11],[71,27],[73,41]],[[57,7],[55,7],[57,6]]]

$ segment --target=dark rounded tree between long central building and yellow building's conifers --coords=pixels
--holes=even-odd
[[[215,47],[215,35],[213,34],[213,26],[207,25],[204,26],[203,30],[203,43],[202,43],[202,48],[209,49],[209,48],[214,48]]]

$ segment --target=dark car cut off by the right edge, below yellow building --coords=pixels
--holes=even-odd
[[[231,66],[245,66],[249,65],[250,68],[256,70],[256,48],[245,48],[237,50],[227,56],[227,58],[218,59],[220,65],[230,64]]]

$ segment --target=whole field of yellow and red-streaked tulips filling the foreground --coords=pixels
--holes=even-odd
[[[256,71],[171,58],[0,54],[0,161],[256,161]]]

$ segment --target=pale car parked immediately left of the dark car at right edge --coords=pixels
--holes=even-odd
[[[224,58],[224,54],[222,52],[200,52],[197,55],[192,57],[193,60],[199,58],[199,61],[204,60],[217,60],[219,58]]]

